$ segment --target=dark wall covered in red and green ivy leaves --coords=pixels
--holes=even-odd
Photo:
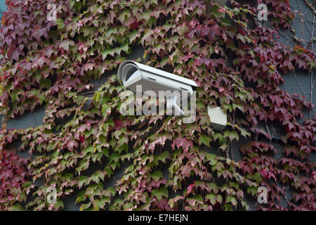
[[[0,210],[315,210],[312,5],[266,1],[263,26],[234,1],[23,2],[0,32]],[[125,58],[194,79],[196,123],[120,115]]]

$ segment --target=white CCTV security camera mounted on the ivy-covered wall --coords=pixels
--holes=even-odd
[[[178,75],[173,75],[163,70],[158,70],[141,63],[131,60],[125,60],[119,65],[119,79],[124,86],[132,91],[136,91],[136,85],[142,86],[142,91],[154,91],[157,95],[159,91],[178,91],[178,93],[187,93],[191,96],[197,88],[197,84],[191,79],[186,79]],[[171,94],[167,96],[167,108],[173,108],[183,115],[183,111],[176,104],[178,95]]]

